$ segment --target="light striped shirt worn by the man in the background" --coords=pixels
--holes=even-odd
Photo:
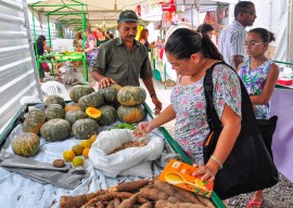
[[[246,57],[243,47],[246,34],[245,28],[235,20],[220,32],[219,52],[222,54],[225,62],[233,68],[235,68],[233,55]]]

